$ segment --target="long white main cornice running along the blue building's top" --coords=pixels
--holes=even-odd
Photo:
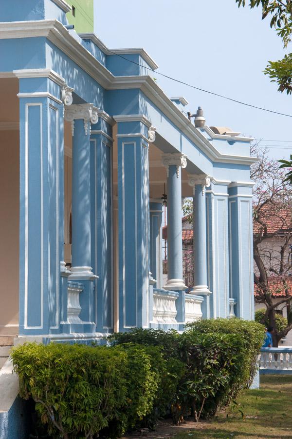
[[[57,20],[14,21],[0,23],[0,39],[46,37],[106,89],[140,89],[207,157],[215,162],[250,165],[256,161],[249,156],[222,154],[205,138],[200,129],[183,115],[181,110],[149,76],[114,77],[94,56],[75,40]],[[215,135],[230,140],[230,136]],[[237,140],[250,141],[248,138]]]

